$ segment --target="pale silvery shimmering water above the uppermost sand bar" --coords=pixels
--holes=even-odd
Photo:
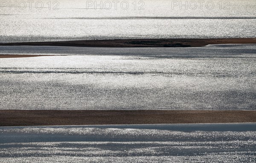
[[[4,2],[0,42],[256,37],[255,0]]]

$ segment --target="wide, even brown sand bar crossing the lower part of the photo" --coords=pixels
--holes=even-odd
[[[256,110],[0,110],[0,126],[256,122]]]

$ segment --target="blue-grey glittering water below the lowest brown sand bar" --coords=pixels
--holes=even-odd
[[[256,124],[1,127],[4,163],[246,162]]]

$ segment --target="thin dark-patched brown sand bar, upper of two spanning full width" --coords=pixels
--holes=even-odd
[[[77,46],[77,47],[201,47],[209,44],[256,44],[256,38],[230,39],[112,39],[112,40],[79,40],[58,42],[21,42],[2,43],[0,45],[31,46]]]

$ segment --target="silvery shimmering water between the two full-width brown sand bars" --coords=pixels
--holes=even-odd
[[[1,47],[0,108],[255,110],[256,46]]]

